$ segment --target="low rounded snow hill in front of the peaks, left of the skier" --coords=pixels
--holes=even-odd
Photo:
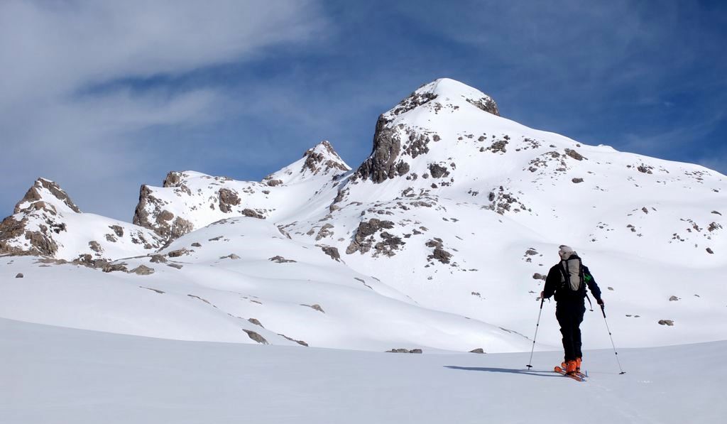
[[[230,218],[182,236],[161,255],[116,261],[106,273],[13,258],[4,270],[23,278],[4,281],[0,311],[23,321],[180,340],[371,351],[531,345],[507,329],[421,308],[351,271],[335,253],[288,239],[265,221]]]

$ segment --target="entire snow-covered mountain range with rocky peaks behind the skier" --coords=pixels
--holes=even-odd
[[[383,113],[356,169],[322,142],[262,182],[185,171],[143,185],[124,249],[100,240],[121,224],[49,193],[57,216],[21,201],[3,221],[6,252],[45,258],[3,258],[23,279],[3,280],[2,317],[180,340],[526,351],[543,276],[569,244],[621,345],[727,338],[727,177],[525,127],[451,79]],[[59,247],[24,241],[33,231]],[[107,272],[59,263],[89,241]],[[583,325],[587,347],[610,346],[599,318]],[[547,319],[542,349],[560,343]]]

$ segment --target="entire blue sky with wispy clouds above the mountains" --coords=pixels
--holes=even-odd
[[[598,3],[598,4],[597,4]],[[36,177],[131,220],[141,184],[260,180],[443,76],[503,116],[727,173],[721,1],[4,1],[0,215]]]

